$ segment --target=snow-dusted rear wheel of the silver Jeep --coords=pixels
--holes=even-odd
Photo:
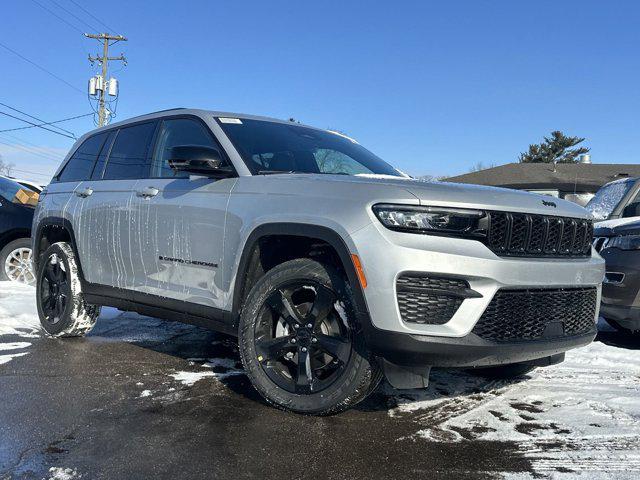
[[[68,243],[54,243],[42,254],[36,280],[38,316],[45,332],[81,337],[91,331],[100,307],[84,300],[78,264]]]

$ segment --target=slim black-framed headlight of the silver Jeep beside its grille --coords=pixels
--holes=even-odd
[[[487,214],[482,210],[379,204],[373,211],[391,230],[471,237],[487,234]]]

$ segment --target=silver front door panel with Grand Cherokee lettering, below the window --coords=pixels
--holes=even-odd
[[[220,278],[226,206],[236,179],[148,179],[138,190],[158,194],[134,199],[139,225],[143,293],[211,307],[222,306]]]

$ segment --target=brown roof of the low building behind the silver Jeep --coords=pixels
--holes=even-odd
[[[621,178],[640,177],[640,165],[624,163],[508,163],[445,179],[520,190],[596,192],[604,184]]]

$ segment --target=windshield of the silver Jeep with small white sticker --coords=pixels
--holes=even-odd
[[[290,172],[403,177],[340,133],[246,118],[218,118],[218,122],[254,175]]]

